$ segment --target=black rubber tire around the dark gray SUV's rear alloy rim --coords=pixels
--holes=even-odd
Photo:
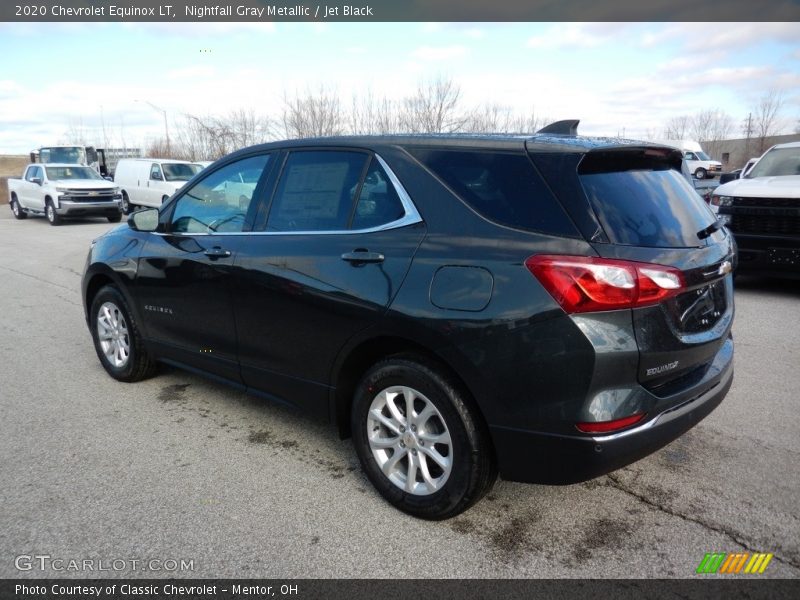
[[[432,404],[438,411],[424,422],[417,421],[415,434],[408,439],[408,432],[414,429],[412,425],[408,426],[408,430],[404,429],[403,433],[393,434],[388,427],[379,432],[380,426],[371,418],[374,413],[370,412],[373,402],[380,403],[381,395],[385,391],[400,388],[412,390],[414,399],[411,406],[416,416],[427,412],[428,404]],[[398,403],[398,408],[402,404]],[[387,411],[382,414],[391,414],[388,404],[380,410]],[[407,409],[402,409],[402,412],[405,417]],[[408,421],[406,419],[406,424]],[[413,424],[414,420],[411,422]],[[364,375],[353,399],[351,427],[356,453],[367,477],[386,500],[415,517],[431,520],[453,517],[480,500],[497,478],[489,433],[477,411],[468,402],[467,396],[443,370],[424,364],[422,359],[414,355],[389,357],[374,365]],[[426,429],[430,431],[424,432]],[[388,433],[389,437],[383,436],[383,433]],[[432,436],[441,438],[442,434],[449,434],[449,446],[430,441]],[[374,440],[385,442],[394,439],[400,441],[396,449],[391,449],[391,455],[388,454],[389,448],[376,449],[377,453],[383,453],[379,459],[373,454],[370,436],[374,436]],[[403,443],[404,440],[407,444]],[[424,447],[426,440],[429,440],[427,448]],[[449,474],[445,475],[444,470],[430,458],[432,450],[450,459]],[[385,460],[384,465],[388,465],[398,451],[405,454],[394,461],[393,464],[398,466],[396,471],[392,471],[393,467],[390,468],[391,476],[395,478],[392,481],[390,476],[384,474],[378,461]],[[420,490],[417,493],[408,491],[412,472],[409,460],[412,459],[412,452],[416,467],[411,486],[423,488],[421,493]],[[425,472],[431,481],[435,482],[438,476],[441,482],[439,487],[431,487],[426,483],[421,462],[426,462]],[[405,483],[397,481],[398,478],[403,478],[403,469],[406,471]]]

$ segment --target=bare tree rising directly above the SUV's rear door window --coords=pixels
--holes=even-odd
[[[303,95],[284,95],[281,122],[284,134],[291,138],[342,135],[347,125],[339,94],[324,87]]]

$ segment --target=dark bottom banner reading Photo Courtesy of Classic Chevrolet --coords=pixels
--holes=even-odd
[[[732,577],[683,580],[320,580],[27,579],[0,581],[3,600],[459,600],[546,598],[797,598],[800,580]]]

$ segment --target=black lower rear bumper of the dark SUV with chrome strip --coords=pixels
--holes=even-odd
[[[733,383],[730,356],[705,392],[649,418],[642,425],[603,436],[561,435],[490,427],[500,475],[510,481],[570,484],[624,467],[664,447],[708,416]]]

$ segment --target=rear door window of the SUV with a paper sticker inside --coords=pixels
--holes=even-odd
[[[368,155],[300,151],[286,159],[267,231],[341,231],[348,228]]]

